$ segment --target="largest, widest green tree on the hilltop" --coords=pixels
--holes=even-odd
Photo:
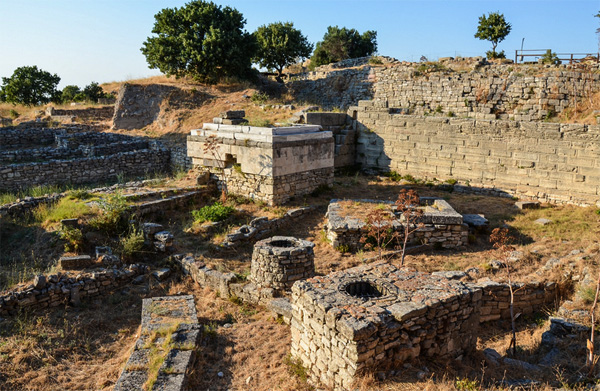
[[[140,49],[150,68],[206,82],[252,75],[255,43],[243,30],[246,20],[236,9],[195,0],[181,8],[164,8],[154,19],[156,35]]]

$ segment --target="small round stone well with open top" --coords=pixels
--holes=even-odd
[[[259,287],[290,289],[294,282],[315,275],[314,243],[290,236],[273,236],[254,245],[250,279]]]

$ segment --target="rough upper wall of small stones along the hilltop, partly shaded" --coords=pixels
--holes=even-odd
[[[498,65],[474,58],[374,66],[357,60],[295,75],[287,86],[297,100],[325,109],[375,99],[411,114],[518,121],[554,116],[600,91],[600,74],[567,65]]]

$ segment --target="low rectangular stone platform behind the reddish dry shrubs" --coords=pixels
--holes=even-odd
[[[423,215],[419,222],[423,227],[409,238],[418,244],[433,244],[442,248],[456,248],[467,244],[469,228],[463,217],[446,201],[435,197],[421,197]],[[367,234],[366,214],[378,205],[383,205],[390,214],[396,213],[394,203],[377,200],[331,200],[327,209],[327,238],[334,248],[340,246],[356,251]],[[366,210],[365,210],[366,208]],[[393,230],[403,227],[401,216],[395,215],[391,222]]]

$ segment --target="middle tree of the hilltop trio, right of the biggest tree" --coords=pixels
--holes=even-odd
[[[290,22],[260,26],[254,32],[254,38],[257,44],[254,60],[260,66],[276,70],[278,78],[281,78],[283,68],[310,56],[312,52],[308,38]]]

